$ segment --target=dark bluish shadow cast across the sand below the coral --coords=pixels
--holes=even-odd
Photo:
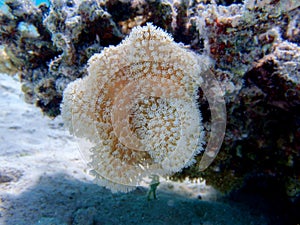
[[[2,202],[5,225],[114,225],[268,224],[260,213],[241,204],[189,199],[158,190],[158,199],[147,201],[147,190],[112,194],[89,182],[64,174],[45,175],[18,196]]]

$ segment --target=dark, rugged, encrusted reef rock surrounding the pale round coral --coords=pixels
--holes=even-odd
[[[5,4],[0,72],[19,74],[26,102],[50,117],[59,115],[63,90],[86,75],[87,60],[119,44],[133,27],[152,22],[176,42],[214,60],[211,70],[224,90],[228,112],[225,140],[213,165],[199,172],[196,164],[173,179],[202,177],[227,192],[267,176],[289,197],[299,198],[299,1]],[[207,123],[209,107],[204,100],[200,107]]]

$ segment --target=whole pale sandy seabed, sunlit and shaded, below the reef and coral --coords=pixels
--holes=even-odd
[[[112,194],[92,180],[61,117],[44,117],[23,101],[16,78],[0,74],[1,225],[268,224],[205,182],[163,181],[147,201],[147,187]]]

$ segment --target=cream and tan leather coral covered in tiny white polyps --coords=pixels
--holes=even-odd
[[[208,63],[151,24],[89,60],[89,75],[64,92],[62,116],[91,142],[89,165],[100,185],[126,192],[194,162],[203,145],[197,92]]]

